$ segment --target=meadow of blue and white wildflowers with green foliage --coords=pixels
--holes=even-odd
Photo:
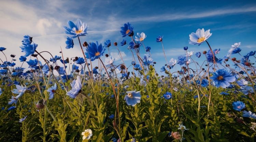
[[[138,33],[132,22],[120,23],[116,32],[122,40],[102,43],[86,38],[94,25],[80,19],[62,26],[66,47],[57,53],[45,51],[26,33],[20,47],[12,48],[19,55],[5,54],[8,47],[0,44],[1,142],[256,140],[255,49],[241,54],[240,41],[229,50],[213,47],[217,35],[202,28],[189,31],[183,56],[168,58],[168,39],[161,35],[154,42],[164,64],[156,68],[154,47],[144,43],[146,33]],[[70,57],[63,48],[80,52]],[[132,54],[129,64],[124,50]]]

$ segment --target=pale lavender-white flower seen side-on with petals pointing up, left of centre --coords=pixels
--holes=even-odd
[[[71,98],[75,98],[80,93],[82,88],[80,76],[77,76],[77,79],[74,79],[73,82],[70,83],[70,85],[72,89],[67,92],[67,95]]]

